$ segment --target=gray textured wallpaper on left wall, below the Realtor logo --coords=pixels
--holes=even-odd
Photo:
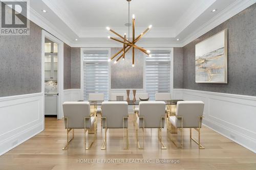
[[[30,35],[0,35],[0,97],[41,92],[41,28]]]

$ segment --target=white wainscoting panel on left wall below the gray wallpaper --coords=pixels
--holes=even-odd
[[[0,98],[0,155],[44,130],[44,94]]]

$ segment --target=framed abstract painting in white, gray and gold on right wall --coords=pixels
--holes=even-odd
[[[227,83],[227,29],[196,44],[196,83]]]

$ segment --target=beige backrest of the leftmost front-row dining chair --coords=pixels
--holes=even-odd
[[[68,117],[68,128],[83,129],[84,117],[90,117],[89,102],[64,102],[62,104],[64,117]],[[65,128],[67,120],[65,119]]]

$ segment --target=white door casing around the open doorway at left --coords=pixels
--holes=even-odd
[[[61,119],[63,117],[63,110],[62,110],[62,103],[63,103],[63,84],[64,84],[64,77],[63,77],[63,42],[51,35],[50,33],[42,30],[42,54],[41,54],[41,62],[42,62],[42,72],[41,72],[41,82],[42,82],[42,93],[45,93],[45,38],[55,42],[58,44],[58,114],[57,118]],[[43,106],[45,108],[45,96],[43,100]]]

